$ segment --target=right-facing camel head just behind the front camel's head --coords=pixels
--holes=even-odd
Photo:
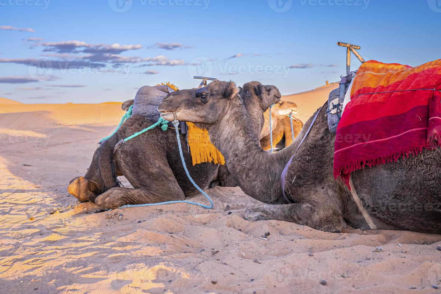
[[[271,104],[280,103],[280,92],[276,86],[262,85],[260,82],[252,81],[243,85],[240,96],[243,99],[248,99],[248,93],[254,94],[258,97],[259,106],[262,111],[265,111]],[[246,103],[246,101],[244,101]]]

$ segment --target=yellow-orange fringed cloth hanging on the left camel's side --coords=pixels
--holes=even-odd
[[[199,129],[191,122],[188,125],[188,145],[190,146],[193,165],[202,162],[225,164],[225,158],[219,150],[210,142],[208,131]]]

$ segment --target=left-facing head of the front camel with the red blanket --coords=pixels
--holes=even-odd
[[[198,89],[169,93],[158,107],[161,117],[173,121],[214,124],[228,110],[239,88],[232,82],[213,81]]]

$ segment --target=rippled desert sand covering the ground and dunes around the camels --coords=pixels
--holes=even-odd
[[[301,119],[329,88],[289,96]],[[93,213],[67,185],[122,114],[117,103],[0,105],[2,293],[439,293],[441,235],[249,222],[244,210],[259,202],[237,187],[210,189],[213,210]]]

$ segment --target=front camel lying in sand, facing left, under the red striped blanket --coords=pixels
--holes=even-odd
[[[269,154],[253,138],[247,112],[230,82],[215,81],[207,88],[168,94],[158,110],[164,119],[191,121],[207,129],[211,142],[225,157],[228,169],[244,193],[267,204],[248,207],[249,221],[290,221],[326,232],[341,232],[344,221],[353,228],[369,228],[349,188],[333,176],[335,135],[329,132],[326,106],[317,110],[303,145],[288,167],[284,201],[280,176],[310,127],[305,123],[297,139],[284,150]],[[212,84],[213,84],[212,83]],[[213,87],[213,85],[212,85]],[[190,103],[198,100],[203,103]],[[314,115],[315,115],[314,114]],[[441,149],[400,159],[351,174],[352,188],[379,229],[441,233]]]

